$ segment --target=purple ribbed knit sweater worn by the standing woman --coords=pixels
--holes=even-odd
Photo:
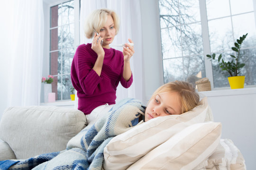
[[[124,57],[121,51],[105,49],[101,76],[92,69],[97,54],[91,49],[91,43],[79,45],[71,65],[71,80],[77,91],[78,110],[85,115],[106,103],[115,104],[116,90],[119,82],[128,88],[133,77],[123,78]]]

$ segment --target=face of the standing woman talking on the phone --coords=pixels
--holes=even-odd
[[[109,44],[113,42],[116,35],[116,29],[114,26],[113,18],[108,15],[106,24],[100,30],[100,36],[103,37],[102,47],[110,48]]]

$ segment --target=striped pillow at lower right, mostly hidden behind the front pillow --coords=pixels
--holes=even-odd
[[[230,139],[220,139],[214,153],[201,162],[194,170],[246,170],[242,153]]]

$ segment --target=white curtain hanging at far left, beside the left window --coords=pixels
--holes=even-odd
[[[0,74],[8,76],[1,85],[6,95],[0,114],[9,106],[39,105],[44,43],[43,0],[5,0],[1,5]]]

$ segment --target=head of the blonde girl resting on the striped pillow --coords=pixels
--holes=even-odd
[[[192,84],[177,80],[166,83],[160,86],[150,98],[144,121],[161,116],[182,114],[197,106],[199,100],[199,94]],[[136,123],[138,121],[135,120],[133,125]]]

